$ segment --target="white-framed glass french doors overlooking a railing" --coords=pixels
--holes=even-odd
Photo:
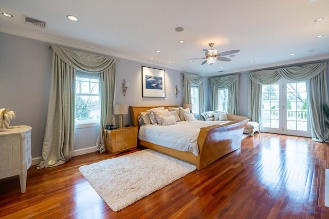
[[[262,86],[261,130],[310,137],[305,82]]]

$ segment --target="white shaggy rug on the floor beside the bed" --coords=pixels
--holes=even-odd
[[[151,149],[79,167],[113,211],[120,211],[195,169],[193,164]]]

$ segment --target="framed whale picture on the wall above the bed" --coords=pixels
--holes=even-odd
[[[166,97],[165,70],[142,66],[142,97]]]

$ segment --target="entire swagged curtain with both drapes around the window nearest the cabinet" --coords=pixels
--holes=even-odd
[[[112,67],[112,68],[111,68]],[[85,53],[82,51],[71,50],[52,46],[52,81],[50,87],[50,97],[48,103],[47,123],[42,146],[42,161],[37,168],[52,167],[61,165],[72,156],[74,150],[75,138],[75,69],[100,73],[101,99],[107,98],[105,112],[101,113],[101,125],[99,132],[103,130],[105,121],[112,123],[113,92],[102,93],[107,86],[113,86],[115,74],[115,59],[100,55]],[[112,70],[109,70],[109,69]],[[106,75],[106,76],[105,76]],[[103,79],[107,78],[107,79]],[[110,81],[108,81],[110,80]],[[105,85],[106,83],[106,85]],[[105,85],[105,86],[104,86]],[[114,86],[111,87],[114,89]],[[111,111],[111,112],[107,112]],[[105,117],[105,118],[104,118]],[[101,133],[97,139],[97,148],[103,151],[104,144]]]

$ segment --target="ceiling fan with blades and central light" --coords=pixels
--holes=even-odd
[[[218,53],[218,50],[212,49],[213,45],[215,45],[214,43],[209,43],[208,45],[210,46],[210,49],[209,50],[204,49],[204,53],[205,53],[206,57],[203,57],[203,59],[206,59],[206,60],[203,63],[201,63],[201,65],[206,64],[206,63],[208,63],[209,65],[212,65],[216,62],[216,60],[230,62],[231,61],[230,58],[223,57],[223,56],[231,55],[236,52],[240,52],[239,49],[236,49],[236,50],[230,50],[230,51]],[[199,59],[199,58],[185,59],[185,61],[193,60],[193,59]]]

